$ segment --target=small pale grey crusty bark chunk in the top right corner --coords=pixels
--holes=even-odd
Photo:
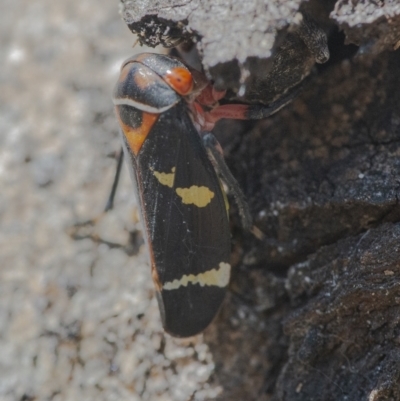
[[[376,55],[400,47],[398,0],[339,0],[331,17],[361,52]]]

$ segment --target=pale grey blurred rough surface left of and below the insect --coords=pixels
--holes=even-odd
[[[0,400],[212,398],[202,337],[163,333],[127,171],[115,210],[70,236],[105,205],[112,88],[143,51],[118,4],[17,0],[0,18]]]

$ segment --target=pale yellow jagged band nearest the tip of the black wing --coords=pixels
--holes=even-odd
[[[176,290],[179,287],[187,287],[190,284],[200,284],[201,287],[205,285],[215,285],[217,287],[226,287],[229,284],[229,277],[231,274],[231,265],[229,263],[221,262],[219,269],[211,269],[204,273],[197,275],[184,274],[179,280],[169,281],[163,285],[164,290]]]

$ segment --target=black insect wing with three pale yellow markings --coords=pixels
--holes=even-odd
[[[178,337],[198,334],[218,312],[230,277],[219,179],[183,102],[159,115],[137,155],[123,138],[163,326]]]

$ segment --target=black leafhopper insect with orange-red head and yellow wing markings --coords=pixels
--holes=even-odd
[[[252,226],[243,193],[209,131],[220,118],[264,118],[288,102],[220,105],[224,94],[179,59],[150,53],[123,63],[114,90],[162,324],[176,337],[210,324],[229,283],[228,202],[220,177],[237,200],[243,225]]]

